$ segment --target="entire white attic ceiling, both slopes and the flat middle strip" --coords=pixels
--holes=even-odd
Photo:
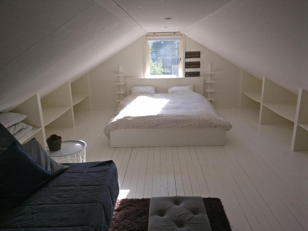
[[[260,79],[294,93],[298,87],[308,90],[307,5],[306,0],[2,0],[0,111],[87,73],[146,32],[181,31]]]

